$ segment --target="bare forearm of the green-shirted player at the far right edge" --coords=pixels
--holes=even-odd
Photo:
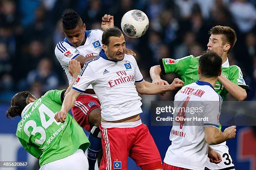
[[[247,93],[245,89],[231,82],[230,80],[225,78],[223,75],[220,75],[218,77],[218,80],[220,81],[221,84],[223,84],[225,89],[228,90],[230,95],[236,98],[236,100],[243,101],[246,99]]]

